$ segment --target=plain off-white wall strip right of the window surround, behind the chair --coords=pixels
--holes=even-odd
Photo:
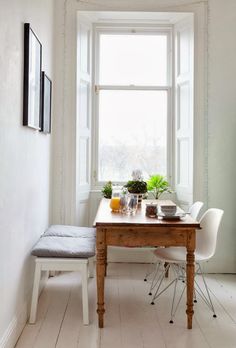
[[[209,1],[208,202],[225,210],[210,269],[236,272],[236,1]]]

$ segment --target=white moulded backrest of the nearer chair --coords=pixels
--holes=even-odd
[[[224,211],[208,209],[200,220],[201,230],[196,233],[196,252],[203,259],[210,259],[216,250],[217,233]]]

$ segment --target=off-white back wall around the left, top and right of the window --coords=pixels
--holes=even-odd
[[[206,5],[208,31],[205,52],[208,70],[205,74],[206,105],[200,106],[205,114],[206,133],[200,134],[201,146],[204,147],[205,168],[195,168],[199,175],[205,174],[204,191],[206,207],[221,207],[225,210],[220,229],[217,253],[208,265],[213,272],[236,272],[236,231],[234,224],[235,207],[235,61],[236,61],[236,3],[235,0],[76,0],[57,1],[57,52],[63,53],[56,65],[57,78],[63,81],[57,85],[57,129],[54,150],[54,222],[73,223],[75,211],[75,52],[76,52],[76,10],[136,10],[136,11],[197,11]],[[175,7],[175,5],[177,5]],[[204,6],[204,5],[203,5]],[[203,28],[199,28],[202,30]],[[202,56],[201,56],[202,57]],[[206,66],[207,66],[206,64]],[[195,122],[200,113],[196,109]],[[62,125],[65,127],[62,135]],[[63,143],[61,142],[63,137]],[[198,139],[195,146],[199,147]],[[202,143],[205,142],[203,145]],[[198,186],[199,189],[199,186]],[[201,188],[202,189],[202,188]],[[61,200],[60,198],[64,199]],[[195,192],[198,198],[198,192]]]

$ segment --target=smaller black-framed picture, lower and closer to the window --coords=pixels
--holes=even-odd
[[[42,72],[42,121],[41,131],[51,133],[52,81]]]

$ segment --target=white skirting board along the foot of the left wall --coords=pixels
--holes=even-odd
[[[43,290],[46,280],[48,278],[48,272],[44,272],[41,284],[40,284],[40,293]],[[28,299],[25,301],[19,311],[14,315],[13,319],[11,320],[10,324],[8,325],[5,333],[2,337],[0,337],[0,348],[14,348],[16,345],[17,340],[19,339],[21,332],[23,331],[25,324],[28,320],[28,309],[30,308],[31,304],[31,291],[30,294],[27,296]]]

